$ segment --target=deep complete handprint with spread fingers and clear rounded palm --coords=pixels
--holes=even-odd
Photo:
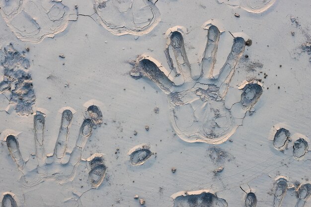
[[[245,41],[242,37],[233,38],[232,50],[216,76],[213,73],[221,32],[213,24],[207,29],[207,44],[199,74],[191,69],[180,26],[166,32],[168,41],[164,53],[170,70],[146,55],[137,59],[134,70],[154,81],[168,95],[171,122],[180,138],[188,142],[219,144],[233,135],[246,111],[257,102],[262,88],[257,81],[246,82],[240,102],[234,104],[234,113],[226,106],[229,84],[244,52]]]

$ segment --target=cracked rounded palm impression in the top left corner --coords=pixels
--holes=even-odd
[[[69,8],[58,0],[0,0],[0,13],[22,41],[41,42],[67,28]]]

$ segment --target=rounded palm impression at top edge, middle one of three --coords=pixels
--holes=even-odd
[[[100,24],[115,35],[144,35],[160,21],[152,0],[95,0]]]

